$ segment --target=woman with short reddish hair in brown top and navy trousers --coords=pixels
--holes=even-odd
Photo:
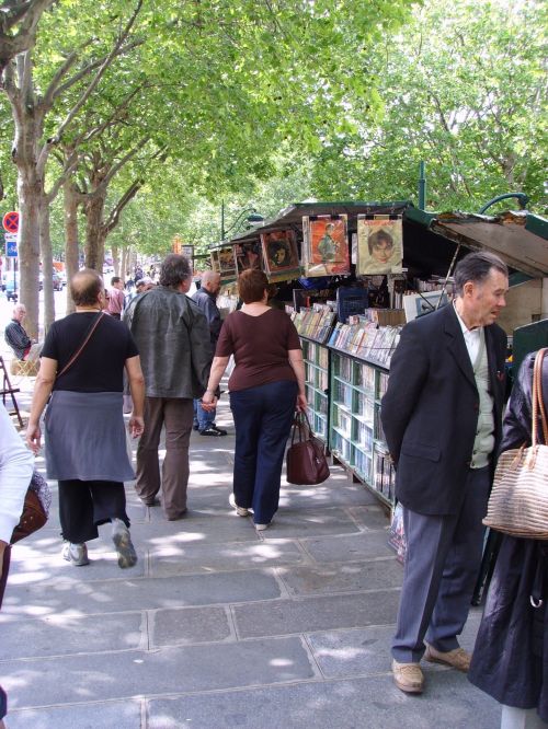
[[[269,279],[258,269],[238,279],[243,306],[227,316],[212,364],[204,409],[230,355],[236,367],[228,381],[236,426],[233,496],[236,510],[253,510],[255,529],[266,529],[277,511],[285,444],[295,410],[305,410],[305,366],[297,329],[283,311],[266,305]]]

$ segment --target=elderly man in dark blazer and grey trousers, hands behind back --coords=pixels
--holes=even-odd
[[[390,363],[381,419],[408,541],[392,673],[406,693],[423,691],[424,653],[461,671],[470,664],[457,636],[501,438],[506,335],[494,321],[507,286],[500,258],[469,254],[455,269],[453,303],[410,322]]]

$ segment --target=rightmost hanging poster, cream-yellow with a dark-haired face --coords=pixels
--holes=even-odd
[[[401,217],[357,217],[357,269],[359,276],[400,274],[403,263]]]

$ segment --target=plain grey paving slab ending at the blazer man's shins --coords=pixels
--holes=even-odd
[[[233,608],[238,635],[256,638],[266,635],[311,633],[328,628],[387,625],[396,621],[398,590],[358,594],[273,600]]]

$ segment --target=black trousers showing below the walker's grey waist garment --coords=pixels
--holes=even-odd
[[[99,536],[98,526],[122,519],[129,526],[124,484],[115,481],[59,481],[64,540],[81,544]]]

